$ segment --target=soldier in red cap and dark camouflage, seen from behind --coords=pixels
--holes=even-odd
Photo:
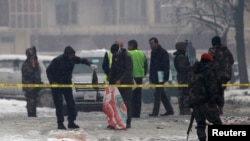
[[[217,85],[218,79],[212,61],[210,54],[202,54],[200,62],[193,65],[190,75],[190,82],[195,82],[193,85],[189,84],[190,107],[193,108],[193,116],[197,123],[199,141],[206,141],[206,120],[214,125],[222,124],[216,102],[222,87]]]

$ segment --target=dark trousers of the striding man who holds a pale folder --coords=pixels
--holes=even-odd
[[[170,104],[170,101],[165,93],[165,89],[163,87],[155,88],[154,93],[155,99],[154,99],[154,107],[153,107],[153,115],[158,115],[160,110],[160,104],[162,102],[165,110],[167,113],[173,113],[173,107]]]

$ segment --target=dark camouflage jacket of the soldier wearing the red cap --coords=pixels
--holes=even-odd
[[[190,76],[189,98],[192,105],[216,103],[216,99],[221,96],[222,86],[213,65],[196,62]]]

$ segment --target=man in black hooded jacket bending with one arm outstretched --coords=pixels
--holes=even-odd
[[[57,56],[48,66],[46,73],[50,84],[72,84],[72,71],[75,64],[85,64],[96,68],[87,59],[75,56],[75,50],[71,46],[64,49],[62,55]],[[63,97],[65,98],[68,111],[68,128],[79,128],[74,123],[77,116],[72,88],[52,88],[53,100],[56,108],[58,129],[66,129],[64,126]]]

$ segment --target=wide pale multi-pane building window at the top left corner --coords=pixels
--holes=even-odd
[[[42,0],[9,0],[9,26],[13,28],[40,28]]]

